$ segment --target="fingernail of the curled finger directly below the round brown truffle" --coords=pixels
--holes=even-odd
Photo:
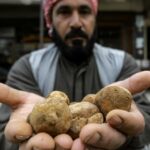
[[[121,120],[121,118],[118,117],[118,116],[115,116],[115,117],[110,118],[107,122],[108,122],[111,126],[114,126],[114,127],[117,127],[117,128],[120,128],[121,125],[122,125],[122,120]]]

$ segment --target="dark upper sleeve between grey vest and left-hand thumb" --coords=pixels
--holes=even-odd
[[[29,63],[29,57],[29,54],[23,56],[12,66],[6,84],[15,89],[42,95],[38,84],[34,79]]]

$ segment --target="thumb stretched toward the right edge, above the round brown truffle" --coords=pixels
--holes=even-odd
[[[150,71],[142,71],[132,75],[126,80],[113,83],[128,89],[132,94],[142,92],[150,87]]]

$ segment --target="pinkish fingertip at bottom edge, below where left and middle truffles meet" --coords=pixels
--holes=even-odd
[[[55,144],[55,150],[70,150],[73,144],[73,140],[67,134],[60,134],[55,137]]]

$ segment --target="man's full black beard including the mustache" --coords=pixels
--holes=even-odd
[[[53,28],[52,39],[60,50],[61,54],[70,62],[80,65],[83,62],[88,61],[93,54],[93,47],[96,41],[96,29],[90,39],[88,39],[87,34],[81,29],[72,29],[65,36],[65,40],[75,37],[86,39],[85,46],[83,46],[83,40],[74,40],[72,41],[72,46],[68,46],[59,36],[56,29]]]

